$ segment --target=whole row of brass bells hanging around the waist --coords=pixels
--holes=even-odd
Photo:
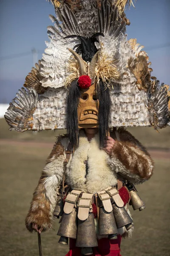
[[[129,186],[130,205],[133,209],[142,211],[145,206],[142,199],[136,192],[134,186]],[[99,209],[99,235],[108,235],[109,239],[117,239],[118,229],[125,227],[130,230],[133,227],[133,220],[125,207],[117,207],[112,204],[113,211],[106,212],[103,207]],[[54,218],[62,216],[57,235],[60,236],[60,244],[68,244],[68,238],[76,239],[76,247],[82,247],[82,255],[93,254],[92,247],[97,247],[97,238],[94,222],[94,214],[89,212],[88,218],[81,221],[77,218],[77,209],[74,208],[69,214],[63,212],[62,197],[54,210]]]

